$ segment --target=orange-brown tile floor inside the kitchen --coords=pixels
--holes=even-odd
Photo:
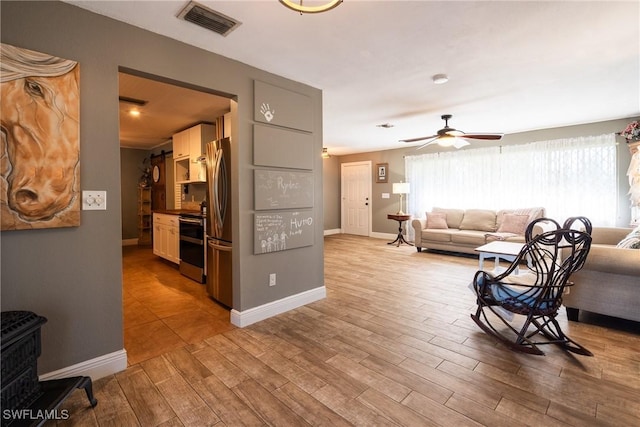
[[[129,366],[235,328],[205,285],[182,276],[151,248],[125,246],[124,347]]]

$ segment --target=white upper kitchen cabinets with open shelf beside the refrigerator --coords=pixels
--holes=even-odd
[[[173,158],[177,184],[206,182],[206,166],[202,160],[205,145],[215,139],[215,126],[200,124],[173,135]]]

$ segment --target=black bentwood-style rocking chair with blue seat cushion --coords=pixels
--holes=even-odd
[[[534,229],[540,228],[536,225],[543,229],[550,226],[552,230],[533,236]],[[591,222],[584,217],[569,218],[562,227],[549,218],[529,224],[525,245],[503,273],[494,276],[480,270],[475,274],[472,285],[478,309],[471,318],[512,350],[543,355],[538,346],[557,344],[565,350],[593,356],[566,336],[556,320],[565,287],[573,285],[569,277],[583,267],[591,248],[591,229]],[[492,325],[490,318],[496,320],[487,310],[507,328],[498,323],[498,330]],[[525,316],[521,326],[511,324],[513,314]],[[546,340],[534,340],[539,334]]]

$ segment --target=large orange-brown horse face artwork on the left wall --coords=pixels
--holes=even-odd
[[[80,225],[80,70],[0,44],[2,230]]]

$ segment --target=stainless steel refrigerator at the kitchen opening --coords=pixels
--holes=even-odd
[[[231,139],[207,143],[207,293],[233,307]]]

